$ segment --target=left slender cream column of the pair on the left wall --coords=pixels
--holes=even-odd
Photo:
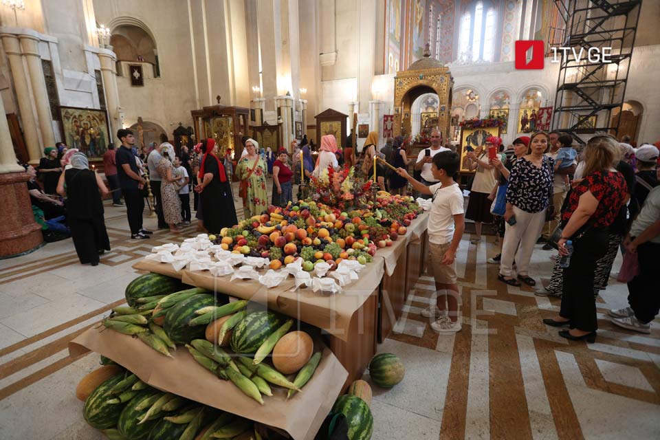
[[[23,133],[25,133],[25,144],[28,146],[28,155],[30,155],[30,164],[39,164],[41,159],[42,146],[39,131],[37,130],[36,116],[32,112],[34,104],[30,98],[30,88],[28,87],[28,77],[23,69],[23,56],[21,56],[21,45],[19,39],[14,34],[1,34],[2,45],[9,58],[9,65],[12,69],[12,78],[14,87],[16,87],[16,97],[19,101],[19,111],[21,111],[21,121],[23,122]],[[50,117],[50,115],[49,115]],[[11,144],[11,140],[10,140]]]

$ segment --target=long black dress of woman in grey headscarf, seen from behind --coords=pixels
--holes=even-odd
[[[64,173],[67,187],[69,230],[80,263],[98,263],[98,252],[110,250],[103,218],[103,203],[98,193],[96,173],[71,168]]]

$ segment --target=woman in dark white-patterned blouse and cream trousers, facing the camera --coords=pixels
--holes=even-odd
[[[534,133],[529,140],[527,155],[518,159],[509,174],[507,210],[504,213],[507,225],[498,276],[500,281],[508,285],[520,285],[514,277],[514,261],[518,268],[518,279],[527,285],[536,285],[527,270],[553,196],[554,163],[544,155],[549,148],[548,133]]]

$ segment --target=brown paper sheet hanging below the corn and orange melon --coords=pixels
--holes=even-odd
[[[264,406],[244,395],[232,382],[218,379],[197,364],[185,347],[178,346],[173,358],[166,358],[137,338],[111,330],[89,329],[69,342],[69,353],[72,357],[88,350],[100,353],[155,388],[281,428],[294,439],[311,440],[348,377],[330,349],[321,346],[315,341],[315,349],[322,348],[323,355],[303,391],[287,401],[285,388],[273,386],[273,396],[264,396]]]

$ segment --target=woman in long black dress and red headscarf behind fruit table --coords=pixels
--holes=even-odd
[[[232,186],[225,174],[225,167],[217,157],[215,140],[207,139],[201,144],[203,157],[199,161],[199,192],[204,228],[209,234],[217,234],[222,228],[231,228],[239,223],[236,219]]]

